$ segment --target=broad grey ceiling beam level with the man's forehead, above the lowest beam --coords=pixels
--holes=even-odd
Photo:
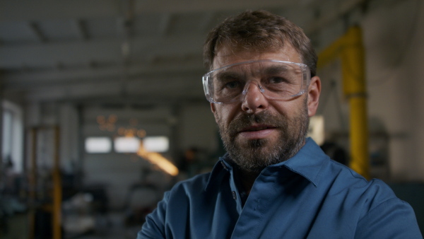
[[[201,53],[204,35],[175,37],[134,37],[131,40],[131,59],[148,60],[155,57],[196,55]],[[54,67],[89,62],[122,61],[122,40],[90,40],[86,42],[50,42],[40,45],[0,46],[0,69]]]

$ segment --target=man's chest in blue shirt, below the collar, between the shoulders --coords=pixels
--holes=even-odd
[[[190,238],[331,238],[329,232],[353,238],[358,220],[342,198],[301,177],[254,185],[244,206],[234,185],[213,195],[189,206]]]

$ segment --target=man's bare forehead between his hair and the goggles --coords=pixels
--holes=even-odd
[[[294,47],[288,44],[276,51],[259,51],[252,49],[240,49],[236,51],[230,47],[221,47],[218,49],[216,57],[213,59],[213,69],[218,69],[220,67],[239,62],[262,59],[302,63],[298,52]]]

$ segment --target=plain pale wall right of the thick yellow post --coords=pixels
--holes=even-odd
[[[363,19],[369,115],[389,133],[393,180],[424,180],[424,4],[397,1]]]

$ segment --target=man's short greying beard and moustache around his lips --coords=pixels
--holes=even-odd
[[[217,118],[221,139],[230,159],[240,170],[261,173],[269,165],[280,163],[295,156],[305,144],[309,116],[307,99],[302,109],[293,117],[288,115],[271,115],[264,110],[254,115],[242,114],[225,127],[220,117]],[[250,125],[266,124],[276,127],[278,139],[250,139],[237,141],[241,129]]]

